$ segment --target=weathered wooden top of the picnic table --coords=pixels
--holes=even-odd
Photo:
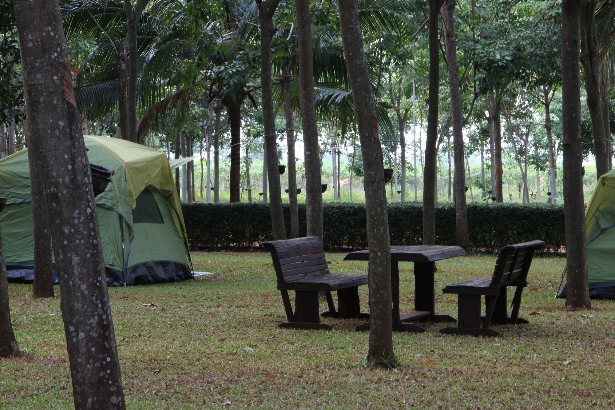
[[[397,262],[434,262],[466,255],[461,246],[391,246],[391,260]],[[344,260],[369,260],[368,249],[351,252]]]

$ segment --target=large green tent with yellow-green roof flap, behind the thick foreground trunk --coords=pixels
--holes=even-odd
[[[111,286],[192,278],[188,237],[164,152],[121,139],[84,135],[90,163],[113,169],[96,198]],[[33,279],[34,241],[28,150],[0,160],[0,212],[9,280]],[[55,273],[55,272],[54,272]]]

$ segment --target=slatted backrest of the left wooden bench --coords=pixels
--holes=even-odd
[[[263,243],[271,252],[277,283],[287,283],[329,273],[325,250],[318,236]]]

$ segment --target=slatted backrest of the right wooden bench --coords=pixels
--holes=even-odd
[[[516,284],[518,281],[525,282],[534,251],[538,251],[543,245],[543,241],[531,241],[502,247],[498,252],[490,286],[499,287]]]

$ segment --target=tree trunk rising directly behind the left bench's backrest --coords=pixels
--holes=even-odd
[[[272,19],[279,2],[280,0],[257,2],[261,23],[261,93],[263,100],[264,140],[265,149],[268,154],[268,185],[271,191],[269,195],[269,211],[271,213],[273,237],[276,240],[286,239],[284,211],[282,211],[282,189],[280,188],[280,174],[277,167],[276,113],[273,108],[271,84],[271,39],[276,34],[276,27],[273,25]],[[290,187],[288,191],[290,192]]]

